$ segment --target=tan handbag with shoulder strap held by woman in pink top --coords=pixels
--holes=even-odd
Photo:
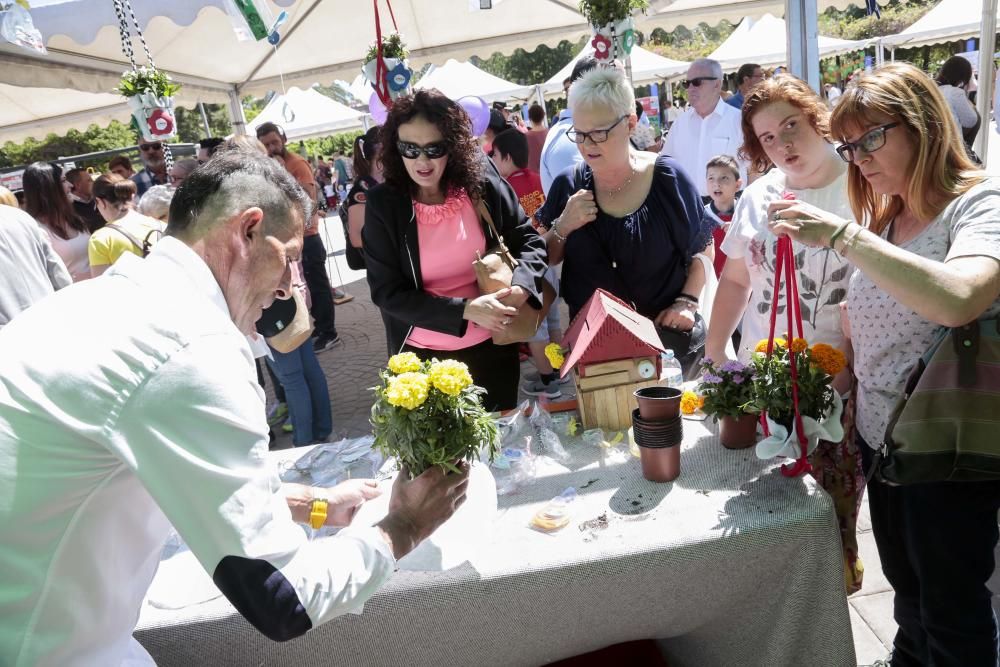
[[[493,224],[493,217],[482,200],[476,203],[476,210],[489,224],[493,235],[499,239],[499,245],[496,249],[486,253],[485,257],[479,257],[472,262],[472,268],[476,272],[476,282],[479,284],[479,292],[492,294],[510,287],[511,281],[514,279],[514,269],[517,268],[517,260],[510,254],[503,236],[497,231],[496,225]],[[517,315],[511,323],[503,331],[493,333],[494,344],[523,343],[534,338],[538,327],[545,320],[545,316],[549,314],[549,309],[555,299],[555,288],[548,281],[543,280],[541,310],[536,310],[527,303],[522,304],[517,309]]]

